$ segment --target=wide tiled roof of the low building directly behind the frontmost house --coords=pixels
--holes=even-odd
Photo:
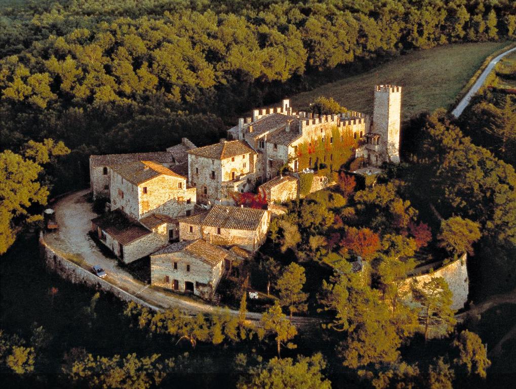
[[[197,224],[209,227],[220,227],[229,230],[254,231],[260,227],[264,209],[214,205],[208,212],[185,218],[180,223]]]

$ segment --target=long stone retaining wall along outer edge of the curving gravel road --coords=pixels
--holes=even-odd
[[[148,302],[143,301],[138,297],[131,295],[130,293],[127,293],[125,290],[122,290],[119,287],[97,277],[89,270],[86,270],[79,265],[76,265],[73,262],[67,260],[61,254],[56,252],[52,247],[48,246],[42,235],[40,235],[39,238],[39,246],[41,258],[45,262],[47,268],[53,270],[62,278],[72,282],[73,284],[88,285],[95,290],[102,289],[114,294],[116,297],[123,301],[134,301],[135,303],[146,306],[154,311],[160,310],[158,307],[149,304]]]

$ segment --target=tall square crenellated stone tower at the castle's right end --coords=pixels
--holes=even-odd
[[[401,87],[375,86],[372,132],[380,134],[382,159],[399,163],[399,128],[401,121]]]

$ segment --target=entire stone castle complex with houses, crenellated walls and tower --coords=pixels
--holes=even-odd
[[[272,202],[297,198],[306,172],[323,166],[340,170],[337,154],[345,139],[352,141],[351,157],[369,167],[398,163],[400,109],[401,87],[379,85],[372,118],[354,111],[294,111],[283,100],[281,107],[255,109],[252,117],[240,118],[228,139],[205,147],[183,138],[164,152],[92,155],[93,199],[108,198],[109,209],[92,220],[92,231],[125,263],[154,253],[153,284],[209,296],[231,261],[260,247],[270,218],[283,212]],[[316,148],[324,156],[312,157]],[[313,180],[311,191],[330,184],[322,174]],[[234,206],[235,193],[258,188],[269,209]],[[196,244],[179,244],[183,241]],[[208,255],[211,251],[218,254]]]

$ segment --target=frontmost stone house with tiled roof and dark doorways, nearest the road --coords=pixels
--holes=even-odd
[[[210,299],[235,257],[203,239],[176,242],[151,255],[151,284]]]

